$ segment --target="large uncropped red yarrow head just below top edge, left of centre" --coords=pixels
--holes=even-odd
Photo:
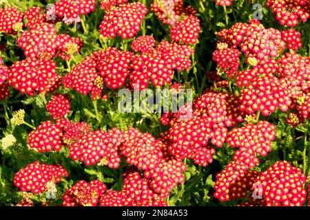
[[[114,38],[116,35],[123,39],[132,38],[140,31],[140,24],[146,13],[146,6],[140,2],[116,6],[103,17],[99,25],[100,34],[107,38]]]

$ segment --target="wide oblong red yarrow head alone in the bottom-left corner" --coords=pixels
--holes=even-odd
[[[61,177],[68,177],[67,171],[62,166],[40,164],[39,161],[28,164],[14,176],[14,184],[21,191],[39,194],[47,190],[46,184],[61,181]]]

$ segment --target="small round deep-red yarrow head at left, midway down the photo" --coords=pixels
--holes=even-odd
[[[70,113],[70,98],[65,95],[55,94],[45,106],[53,119],[63,118]]]

